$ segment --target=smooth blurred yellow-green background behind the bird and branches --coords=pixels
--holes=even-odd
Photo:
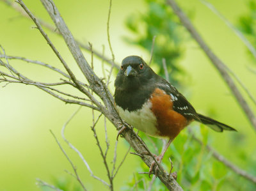
[[[104,45],[105,55],[111,57],[106,33],[109,1],[56,0],[54,2],[70,31],[77,39],[85,44],[91,42],[93,48],[99,52],[102,52],[102,45]],[[170,62],[167,64],[172,63],[168,70],[173,83],[188,97],[198,112],[208,114],[212,118],[234,126],[238,132],[218,134],[212,130],[208,131],[207,127],[204,126],[202,127],[203,130],[200,130],[198,124],[191,125],[191,129],[196,132],[198,137],[206,137],[204,141],[230,162],[256,176],[255,130],[248,123],[234,96],[221,79],[220,74],[205,57],[204,52],[191,39],[186,30],[180,26],[179,20],[172,15],[171,9],[163,6],[162,1],[157,2],[162,5],[157,7],[157,4],[152,3],[152,1],[113,0],[109,32],[115,61],[121,63],[122,59],[129,55],[142,56],[145,61],[149,61],[148,49],[152,45],[152,36],[149,34],[156,35],[155,51],[157,55],[153,57],[153,68],[156,72],[163,73],[158,59],[161,57],[161,51],[169,48],[172,51],[176,50],[172,56],[168,52],[164,53],[166,57],[170,56]],[[255,39],[252,36],[253,29],[248,29],[246,26],[246,23],[256,17],[256,13],[252,11],[253,1],[214,0],[209,2],[234,26],[241,29],[255,45]],[[37,17],[52,23],[40,1],[27,0],[24,3]],[[209,10],[201,1],[178,1],[178,3],[189,15],[196,29],[211,49],[243,80],[245,86],[256,97],[256,75],[252,72],[252,68],[254,70],[256,68],[256,62],[244,43],[220,17]],[[17,4],[17,6],[19,5]],[[7,55],[44,61],[63,69],[42,35],[33,28],[35,24],[31,20],[20,16],[17,11],[7,6],[3,1],[0,1],[0,10],[0,44]],[[149,17],[152,13],[150,11],[156,13],[157,17],[164,19],[166,15],[163,14],[163,10],[167,10],[168,14],[172,15],[173,28],[177,27],[172,35],[179,38],[166,40],[166,37],[161,36],[164,34],[163,28],[147,28],[145,20],[152,19]],[[152,17],[155,18],[155,16],[153,14]],[[246,20],[246,18],[249,19]],[[242,22],[243,19],[246,20],[245,24]],[[152,24],[154,22],[157,20],[153,20]],[[136,29],[132,29],[132,27],[136,27]],[[147,31],[149,28],[152,29],[152,33]],[[70,68],[76,72],[77,77],[84,80],[60,36],[47,29],[45,31]],[[145,33],[148,36],[146,35],[147,40],[144,39],[143,41],[141,39],[145,37]],[[172,46],[166,47],[164,43],[172,43]],[[3,50],[1,52],[3,53]],[[84,55],[90,62],[90,52],[84,52]],[[60,78],[40,66],[17,60],[10,60],[9,62],[20,72],[26,73],[28,77],[35,80],[52,82]],[[95,57],[94,64],[95,71],[99,76],[102,76],[101,60]],[[116,71],[111,78],[110,89],[112,93],[115,91],[113,88],[115,75]],[[68,155],[76,164],[86,188],[88,190],[107,190],[90,176],[80,158],[61,140],[61,128],[70,118],[70,115],[76,111],[77,105],[65,105],[60,100],[56,100],[56,98],[32,86],[25,86],[24,84],[8,84],[4,88],[2,86],[4,86],[3,83],[0,84],[0,190],[47,190],[36,186],[36,178],[59,187],[65,187],[66,190],[79,190],[76,180],[64,171],[65,169],[72,171],[72,169],[49,129],[60,139],[63,148],[67,150]],[[241,89],[241,87],[239,88]],[[253,111],[256,112],[255,105],[244,92],[243,95],[252,105]],[[90,126],[92,126],[92,111],[83,108],[68,125],[66,135],[69,141],[84,153],[84,157],[93,172],[106,179],[106,171]],[[97,132],[102,144],[104,144],[103,121],[100,121],[97,126]],[[108,123],[108,133],[111,144],[108,160],[111,162],[116,130],[110,123]],[[144,137],[143,134],[141,135]],[[168,153],[169,157],[172,157],[174,171],[178,172],[178,181],[184,190],[256,189],[255,184],[253,185],[250,181],[237,176],[230,169],[216,162],[212,159],[211,153],[209,154],[204,147],[192,143],[190,138],[188,130],[184,130],[175,139]],[[154,141],[157,142],[157,140]],[[161,144],[159,146],[161,147]],[[127,148],[127,143],[120,139],[118,162],[124,156]],[[166,161],[167,159],[168,157],[166,157]],[[134,177],[150,181],[147,176],[138,175],[137,172],[143,171],[143,169],[147,168],[141,164],[140,158],[128,155],[114,181],[116,190],[131,189],[134,185]],[[166,169],[168,169],[167,166]],[[198,172],[200,172],[199,175]],[[193,177],[197,178],[193,179]],[[154,189],[164,190],[158,181],[156,181]]]

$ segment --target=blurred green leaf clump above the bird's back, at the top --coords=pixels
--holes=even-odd
[[[162,59],[166,59],[171,82],[177,85],[175,74],[182,72],[177,59],[182,55],[182,35],[179,21],[165,1],[147,0],[146,13],[134,13],[126,22],[126,26],[136,38],[125,38],[129,43],[139,45],[150,52],[152,39],[156,36],[153,61],[159,66],[159,74],[164,76]]]

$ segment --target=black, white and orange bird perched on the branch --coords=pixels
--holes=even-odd
[[[115,79],[114,98],[116,110],[126,123],[152,137],[169,139],[157,160],[163,158],[173,139],[192,121],[203,123],[216,132],[236,131],[196,112],[191,103],[140,56],[123,59]]]

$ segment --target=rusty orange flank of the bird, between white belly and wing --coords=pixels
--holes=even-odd
[[[191,122],[179,112],[173,111],[171,96],[159,88],[152,94],[150,102],[152,103],[151,110],[157,118],[157,129],[160,136],[174,139]]]

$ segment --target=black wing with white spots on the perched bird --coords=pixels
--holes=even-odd
[[[172,84],[166,80],[162,80],[157,84],[157,88],[163,89],[166,94],[171,96],[174,111],[179,112],[182,116],[185,116],[188,119],[196,119],[196,121],[200,121],[194,107],[176,88],[172,86]]]

